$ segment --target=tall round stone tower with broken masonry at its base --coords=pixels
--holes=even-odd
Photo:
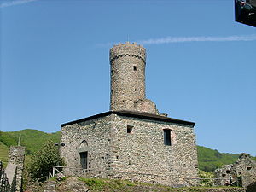
[[[118,44],[110,49],[111,102],[110,110],[157,113],[146,99],[146,49],[136,43]]]

